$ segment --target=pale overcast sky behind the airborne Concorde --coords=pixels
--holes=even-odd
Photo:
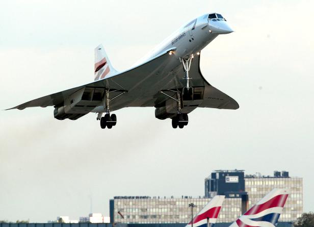
[[[115,195],[204,195],[214,169],[304,179],[304,211],[314,211],[313,1],[2,1],[0,108],[93,81],[103,43],[127,69],[182,24],[219,12],[236,32],[201,54],[213,86],[238,110],[198,108],[173,130],[154,108],[116,111],[101,130],[96,115],[54,119],[53,107],[0,112],[0,220],[46,222],[109,216]]]

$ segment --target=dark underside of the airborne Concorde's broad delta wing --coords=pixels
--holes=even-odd
[[[10,109],[22,110],[28,107],[60,106],[64,104],[71,95],[75,92],[79,92],[83,88],[92,90],[92,92],[96,89],[126,91],[127,93],[117,97],[115,101],[111,103],[110,109],[112,111],[124,107],[160,106],[162,103],[165,103],[170,99],[169,97],[160,94],[160,90],[181,88],[185,86],[185,81],[181,80],[182,75],[184,74],[180,65],[181,63],[174,55],[169,55],[169,51],[170,50],[156,56],[154,59],[140,66],[111,77],[36,98]],[[203,95],[202,99],[199,100],[198,105],[194,105],[195,107],[192,109],[195,109],[196,107],[238,109],[239,105],[236,100],[213,87],[204,79],[200,71],[199,63],[200,55],[197,55],[195,56],[190,69],[193,78],[191,85],[195,87],[203,87]],[[97,105],[101,105],[101,102],[96,102],[94,108]],[[90,108],[86,113],[92,111],[94,108]]]

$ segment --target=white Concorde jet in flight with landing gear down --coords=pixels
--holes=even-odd
[[[155,107],[155,117],[172,119],[172,127],[188,125],[197,107],[239,108],[236,100],[208,83],[199,67],[200,52],[220,34],[233,32],[219,13],[199,16],[182,26],[132,68],[118,72],[102,45],[95,48],[94,82],[49,94],[10,109],[54,106],[56,119],[76,120],[98,113],[102,129],[117,123],[112,111]],[[104,116],[102,116],[104,114]]]

